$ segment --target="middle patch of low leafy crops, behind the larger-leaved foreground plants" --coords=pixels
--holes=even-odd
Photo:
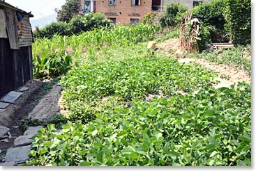
[[[215,76],[199,65],[190,67],[172,58],[142,57],[86,63],[70,70],[61,85],[69,117],[86,123],[96,113],[105,113],[113,104],[124,105],[133,98],[146,99],[149,94],[172,96],[178,91],[211,87]],[[112,104],[102,106],[102,99],[109,96],[115,97]]]

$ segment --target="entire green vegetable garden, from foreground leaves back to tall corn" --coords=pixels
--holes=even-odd
[[[161,39],[153,24],[37,39],[34,76],[62,76],[68,113],[38,132],[25,165],[250,166],[250,84],[214,88],[214,70],[146,49]],[[193,56],[250,73],[243,51]]]

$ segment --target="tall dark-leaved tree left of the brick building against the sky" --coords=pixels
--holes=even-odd
[[[66,3],[61,6],[60,10],[55,9],[57,12],[58,22],[70,22],[73,15],[76,15],[80,11],[80,0],[66,0]]]

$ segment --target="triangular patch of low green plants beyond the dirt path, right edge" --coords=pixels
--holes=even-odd
[[[250,46],[247,47],[239,46],[236,48],[223,50],[221,53],[212,52],[207,54],[206,52],[202,54],[195,54],[196,58],[204,58],[210,62],[216,64],[226,64],[236,67],[237,70],[245,70],[248,74],[251,74],[251,54]]]

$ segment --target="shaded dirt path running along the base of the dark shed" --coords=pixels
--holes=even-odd
[[[40,120],[46,122],[52,115],[59,113],[58,105],[61,97],[61,86],[54,85],[52,89],[45,94],[45,83],[42,81],[29,81],[25,86],[29,88],[23,95],[6,108],[6,111],[0,115],[0,125],[10,129],[4,139],[0,139],[0,163],[6,156],[8,149],[14,146],[15,139],[22,136],[21,123],[24,118],[31,117],[30,120]],[[29,120],[29,119],[27,119]]]

